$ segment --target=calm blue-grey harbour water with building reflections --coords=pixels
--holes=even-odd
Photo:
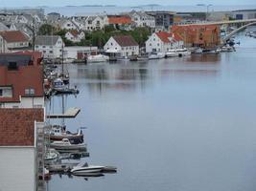
[[[49,190],[255,191],[256,39],[237,39],[236,53],[69,66],[81,94],[65,104],[81,114],[66,124],[88,127],[84,161],[118,173],[57,175]]]

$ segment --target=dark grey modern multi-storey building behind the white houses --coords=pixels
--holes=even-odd
[[[169,31],[174,25],[174,11],[146,11],[147,14],[154,17],[156,31]]]

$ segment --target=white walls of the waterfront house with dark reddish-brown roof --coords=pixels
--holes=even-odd
[[[113,37],[110,37],[105,43],[104,50],[105,53],[117,53],[122,57],[139,54],[139,46],[122,47],[115,41]]]

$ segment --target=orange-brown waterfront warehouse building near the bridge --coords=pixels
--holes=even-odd
[[[186,47],[214,48],[221,43],[218,25],[173,26],[171,32],[182,39]]]

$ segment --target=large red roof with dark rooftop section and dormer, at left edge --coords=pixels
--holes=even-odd
[[[20,101],[20,96],[28,96],[25,94],[26,89],[34,89],[34,96],[44,96],[43,68],[38,64],[41,60],[41,57],[39,58],[40,53],[3,53],[0,54],[0,58],[3,56],[3,61],[9,57],[9,59],[13,59],[15,54],[31,55],[30,60],[33,61],[33,64],[31,64],[31,61],[24,63],[24,60],[19,60],[17,70],[13,71],[8,70],[8,66],[5,63],[0,63],[0,86],[12,87],[12,97],[0,97],[0,102],[18,102]]]

